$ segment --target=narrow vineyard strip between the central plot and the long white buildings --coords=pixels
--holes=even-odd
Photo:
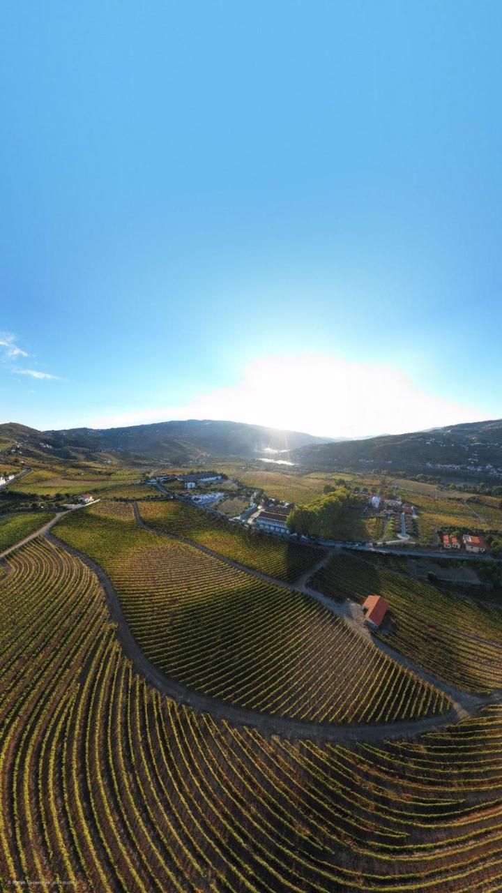
[[[322,549],[300,546],[264,533],[247,532],[218,515],[186,505],[179,499],[138,503],[143,520],[158,530],[193,539],[276,580],[291,583],[318,562]]]

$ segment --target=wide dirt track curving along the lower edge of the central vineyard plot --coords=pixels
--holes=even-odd
[[[289,740],[308,739],[311,741],[383,741],[387,739],[414,738],[427,731],[439,730],[452,722],[458,722],[473,713],[479,706],[496,703],[498,696],[474,698],[466,709],[460,704],[452,705],[447,714],[431,716],[410,722],[373,723],[372,725],[336,725],[315,722],[299,722],[282,716],[261,714],[254,710],[246,710],[225,701],[216,700],[188,689],[181,682],[164,676],[150,663],[138,646],[121,610],[119,597],[113,583],[103,568],[83,552],[68,546],[63,540],[47,533],[46,537],[56,546],[66,549],[87,564],[96,573],[105,590],[106,603],[111,618],[117,624],[117,637],[121,642],[124,654],[130,659],[136,672],[142,675],[151,685],[164,695],[172,697],[179,704],[186,704],[201,713],[207,713],[216,720],[228,720],[238,725],[251,726],[267,736],[280,735]]]

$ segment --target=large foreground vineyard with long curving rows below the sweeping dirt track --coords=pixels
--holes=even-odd
[[[5,567],[5,888],[500,889],[500,708],[416,743],[266,739],[147,689],[78,559],[35,540]]]

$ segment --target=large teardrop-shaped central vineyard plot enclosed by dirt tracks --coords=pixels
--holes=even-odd
[[[311,597],[135,527],[131,512],[100,503],[55,532],[105,568],[138,645],[167,676],[312,722],[390,722],[448,709],[442,693]]]

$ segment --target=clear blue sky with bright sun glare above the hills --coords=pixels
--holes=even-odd
[[[21,0],[0,34],[3,421],[502,416],[498,0]]]

